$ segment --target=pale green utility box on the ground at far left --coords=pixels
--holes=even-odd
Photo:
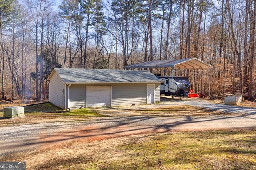
[[[8,117],[8,118],[25,117],[24,107],[21,107],[21,106],[4,107],[4,117]]]

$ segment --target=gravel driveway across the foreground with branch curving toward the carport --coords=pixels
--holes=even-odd
[[[161,102],[158,105],[193,105],[214,111],[239,113],[221,116],[110,116],[90,121],[62,121],[0,128],[0,156],[70,140],[92,141],[149,132],[237,129],[256,127],[256,109],[206,101]],[[153,105],[140,105],[154,107]],[[248,115],[248,113],[250,113]]]

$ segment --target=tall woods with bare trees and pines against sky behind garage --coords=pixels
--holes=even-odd
[[[196,57],[213,66],[210,95],[254,100],[255,24],[256,0],[0,0],[2,99],[46,100],[54,67]],[[207,94],[209,70],[174,75]]]

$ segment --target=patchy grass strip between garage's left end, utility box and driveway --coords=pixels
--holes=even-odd
[[[88,120],[91,117],[105,117],[100,113],[96,113],[92,109],[77,109],[64,113],[44,113],[40,111],[60,111],[59,107],[56,107],[50,103],[37,104],[24,107],[26,118],[22,119],[0,119],[0,127],[17,125],[17,124],[30,124],[30,123],[44,123],[53,121],[82,121]],[[3,112],[0,112],[0,117],[3,116]]]

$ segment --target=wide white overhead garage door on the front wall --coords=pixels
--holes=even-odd
[[[111,86],[86,86],[86,108],[111,106]]]

